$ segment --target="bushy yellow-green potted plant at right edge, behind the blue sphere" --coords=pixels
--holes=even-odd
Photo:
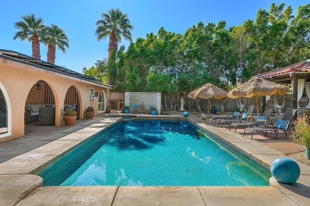
[[[306,156],[310,160],[310,125],[306,116],[297,117],[293,121],[294,130],[291,138],[294,143],[306,147]]]

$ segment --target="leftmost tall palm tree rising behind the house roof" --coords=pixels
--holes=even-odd
[[[40,38],[44,29],[44,20],[41,17],[35,17],[34,14],[22,15],[22,21],[14,23],[17,31],[13,37],[15,40],[19,38],[21,41],[28,41],[32,44],[32,57],[41,59],[40,54]]]

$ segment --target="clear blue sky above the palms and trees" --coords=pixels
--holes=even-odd
[[[56,51],[55,64],[82,73],[83,67],[91,67],[98,59],[108,57],[109,40],[98,42],[94,35],[95,22],[110,8],[120,8],[128,14],[133,42],[145,38],[147,33],[157,34],[164,27],[167,31],[184,34],[185,31],[202,21],[218,23],[225,20],[227,29],[241,25],[247,19],[255,20],[259,9],[269,11],[271,3],[285,3],[293,7],[296,15],[300,5],[309,0],[41,0],[0,2],[0,49],[13,50],[31,56],[31,43],[13,40],[17,31],[14,23],[21,15],[34,13],[42,17],[46,25],[56,24],[69,38],[67,53]],[[120,45],[127,48],[129,42],[122,39]],[[47,47],[41,45],[41,59],[47,60]]]

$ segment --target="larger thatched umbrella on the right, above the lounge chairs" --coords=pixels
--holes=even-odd
[[[227,96],[233,99],[238,97],[256,97],[256,109],[258,115],[258,96],[268,96],[274,94],[283,95],[289,91],[290,88],[287,86],[280,85],[263,78],[253,77],[243,85],[240,85],[239,87],[228,92]]]

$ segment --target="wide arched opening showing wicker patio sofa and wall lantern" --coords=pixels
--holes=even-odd
[[[25,124],[55,125],[55,98],[49,85],[40,80],[30,89],[25,103]]]

